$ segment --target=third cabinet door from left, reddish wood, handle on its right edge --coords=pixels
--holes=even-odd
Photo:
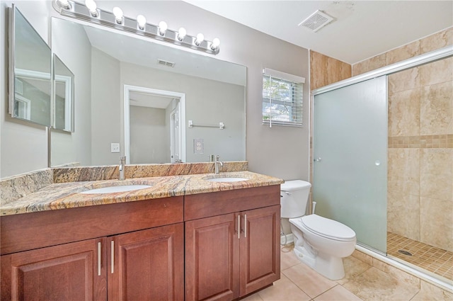
[[[239,297],[239,215],[185,222],[185,301]]]

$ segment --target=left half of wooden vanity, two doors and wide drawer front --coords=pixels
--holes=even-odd
[[[0,222],[1,300],[184,298],[183,197]]]

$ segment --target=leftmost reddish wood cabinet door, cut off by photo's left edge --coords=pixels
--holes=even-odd
[[[105,239],[1,256],[1,300],[106,300]]]

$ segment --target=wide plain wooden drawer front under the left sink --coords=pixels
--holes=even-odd
[[[1,255],[183,222],[183,197],[1,217]]]

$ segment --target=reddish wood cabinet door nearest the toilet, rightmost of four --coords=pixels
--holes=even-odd
[[[280,205],[241,212],[241,296],[280,279]]]

